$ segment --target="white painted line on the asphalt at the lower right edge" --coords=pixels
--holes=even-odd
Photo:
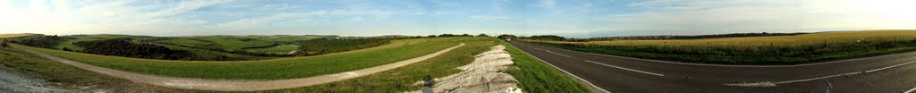
[[[867,71],[849,72],[849,73],[837,74],[837,75],[831,75],[831,76],[825,76],[825,77],[820,77],[820,78],[805,78],[805,79],[796,79],[796,80],[780,81],[780,82],[763,81],[763,82],[754,82],[754,83],[732,83],[732,84],[725,84],[725,86],[733,86],[733,87],[776,87],[777,84],[805,82],[805,81],[812,81],[812,80],[818,80],[818,79],[824,79],[824,78],[836,78],[836,77],[844,77],[844,76],[853,76],[853,75],[858,75],[858,74],[863,74],[863,73],[871,73],[871,72],[875,72],[875,71],[879,71],[879,70],[884,70],[884,69],[888,69],[888,68],[892,68],[892,67],[900,67],[900,66],[908,65],[908,64],[912,64],[912,63],[916,63],[916,61],[910,61],[910,62],[907,62],[907,63],[898,64],[898,65],[894,65],[894,66],[890,66],[890,67],[881,67],[881,68],[871,69],[871,70],[867,70]]]

